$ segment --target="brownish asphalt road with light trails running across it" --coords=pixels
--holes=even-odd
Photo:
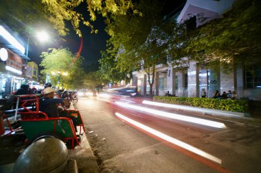
[[[160,117],[153,111],[144,113],[122,107],[115,101],[129,100],[80,98],[75,105],[87,127],[87,138],[100,172],[261,171],[261,129],[258,126],[208,118],[225,124],[225,128],[209,127]],[[165,111],[162,107],[131,104]],[[115,116],[115,112],[120,117]],[[170,142],[166,141],[168,138]],[[172,144],[173,141],[176,143]]]

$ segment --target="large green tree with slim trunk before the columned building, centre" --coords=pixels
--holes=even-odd
[[[148,5],[150,4],[150,5]],[[155,66],[166,59],[169,35],[163,29],[166,25],[161,15],[162,3],[160,1],[140,1],[135,3],[135,9],[142,16],[127,14],[113,16],[106,31],[111,36],[108,52],[117,52],[117,69],[121,72],[144,68],[148,75],[150,95],[155,79]],[[163,62],[166,64],[166,61]],[[151,77],[151,78],[150,78]]]

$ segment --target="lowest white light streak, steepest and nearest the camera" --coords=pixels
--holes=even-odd
[[[218,159],[217,157],[214,157],[212,155],[209,155],[207,152],[204,152],[203,150],[199,150],[198,148],[195,148],[194,146],[191,146],[189,144],[186,144],[185,142],[181,142],[178,139],[175,139],[174,137],[170,137],[164,133],[161,133],[159,131],[156,131],[155,129],[152,129],[150,127],[147,127],[144,124],[141,124],[135,120],[131,120],[130,118],[127,118],[126,116],[123,116],[122,114],[119,113],[115,113],[115,115],[119,118],[121,118],[122,120],[125,120],[126,122],[129,122],[133,125],[135,125],[136,127],[139,127],[140,129],[147,131],[148,133],[151,133],[152,135],[155,135],[157,137],[160,137],[161,139],[164,139],[174,145],[180,146],[181,148],[184,148],[185,150],[189,150],[190,152],[194,152],[196,155],[200,155],[201,157],[205,157],[209,160],[212,160],[216,163],[221,164],[222,160]]]

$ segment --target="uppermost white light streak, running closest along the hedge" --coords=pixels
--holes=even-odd
[[[153,102],[153,101],[143,101],[143,104],[146,105],[154,105],[154,106],[161,106],[161,107],[170,107],[170,108],[174,108],[174,109],[185,109],[185,110],[190,110],[190,111],[202,111],[204,110],[204,112],[212,114],[213,111],[212,110],[207,110],[204,108],[200,108],[198,109],[197,107],[188,107],[188,106],[182,106],[182,105],[173,105],[173,104],[168,104],[168,103],[159,103],[159,102]],[[235,114],[228,114],[225,112],[222,113],[218,113],[219,115],[223,115],[223,116],[238,116]]]

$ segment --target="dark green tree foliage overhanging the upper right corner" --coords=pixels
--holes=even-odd
[[[233,9],[214,21],[196,29],[190,40],[188,56],[198,62],[234,65],[260,64],[261,2],[235,1]]]

